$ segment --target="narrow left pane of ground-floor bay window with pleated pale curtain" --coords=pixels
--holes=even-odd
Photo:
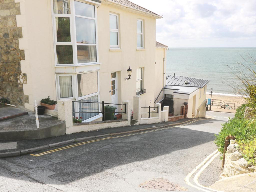
[[[59,76],[60,98],[73,97],[72,76]]]

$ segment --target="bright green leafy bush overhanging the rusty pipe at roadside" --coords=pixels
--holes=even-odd
[[[256,123],[248,123],[243,118],[244,106],[237,109],[235,117],[222,124],[219,135],[216,135],[214,143],[218,146],[220,153],[224,151],[225,138],[228,135],[235,136],[236,141],[253,140],[256,137]]]

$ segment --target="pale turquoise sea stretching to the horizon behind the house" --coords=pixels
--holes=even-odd
[[[218,95],[239,96],[236,75],[248,74],[244,66],[256,71],[256,47],[169,48],[166,57],[167,75],[209,80],[207,92]]]

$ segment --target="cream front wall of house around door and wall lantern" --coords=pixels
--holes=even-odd
[[[119,15],[120,48],[110,50],[109,37],[109,13]],[[104,18],[104,19],[102,19]],[[145,49],[137,50],[137,19],[144,20]],[[142,106],[153,106],[155,91],[155,31],[156,19],[127,10],[116,8],[107,4],[101,4],[98,8],[98,38],[99,38],[99,62],[100,66],[100,100],[111,101],[111,72],[120,71],[118,81],[119,103],[124,100],[131,101],[133,109],[133,96],[136,95],[136,69],[144,67],[144,88],[146,93],[141,95]],[[127,69],[132,69],[131,79]],[[153,86],[152,86],[153,85]],[[150,102],[151,101],[151,102]]]

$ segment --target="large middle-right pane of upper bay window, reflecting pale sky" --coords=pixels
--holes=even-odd
[[[76,17],[77,43],[96,44],[95,20]]]

